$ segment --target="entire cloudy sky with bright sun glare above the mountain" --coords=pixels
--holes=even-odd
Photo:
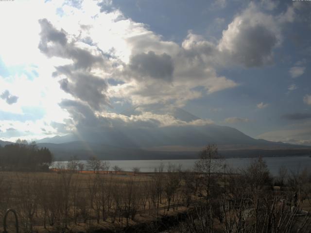
[[[311,145],[311,1],[0,1],[0,32],[0,140],[217,124]]]

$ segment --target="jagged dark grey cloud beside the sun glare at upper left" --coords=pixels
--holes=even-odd
[[[52,73],[53,77],[66,76],[59,81],[60,88],[77,99],[87,102],[95,110],[109,105],[104,93],[107,90],[107,83],[91,72],[92,68],[105,67],[108,58],[104,57],[102,50],[94,46],[80,48],[75,44],[75,39],[69,43],[67,33],[55,29],[47,19],[40,19],[39,24],[41,40],[38,48],[41,52],[49,57],[57,56],[73,61],[72,65],[55,67],[56,71]]]

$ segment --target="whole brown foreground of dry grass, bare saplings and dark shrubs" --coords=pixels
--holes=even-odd
[[[240,173],[202,164],[200,172],[1,171],[0,218],[15,209],[23,233],[308,232],[309,171],[273,179],[260,159]],[[14,224],[10,215],[11,232]]]

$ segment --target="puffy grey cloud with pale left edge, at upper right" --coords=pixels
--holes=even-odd
[[[289,8],[293,12],[292,7]],[[265,14],[251,2],[223,31],[218,49],[225,57],[245,67],[273,64],[273,51],[282,42],[282,25],[291,21],[288,15]]]

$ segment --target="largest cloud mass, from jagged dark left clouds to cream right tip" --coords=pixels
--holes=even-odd
[[[113,15],[110,23],[115,25],[107,36],[111,30],[119,34],[118,38],[108,40],[110,48],[92,30],[95,27],[105,30],[97,19],[92,24],[81,22],[78,35],[57,29],[45,18],[39,20],[40,51],[50,58],[69,60],[67,65],[55,66],[53,77],[59,79],[64,92],[86,102],[93,110],[102,111],[110,106],[110,98],[135,105],[175,103],[183,106],[188,100],[238,85],[225,76],[217,76],[210,63],[216,47],[202,36],[189,33],[180,47],[173,41],[162,40],[145,25],[122,17],[118,10],[101,13],[98,20],[106,14]],[[124,24],[126,29],[118,31],[118,24]],[[120,39],[123,40],[119,44],[114,44]],[[119,84],[109,82],[108,85],[107,79]],[[195,87],[204,88],[194,90]]]

